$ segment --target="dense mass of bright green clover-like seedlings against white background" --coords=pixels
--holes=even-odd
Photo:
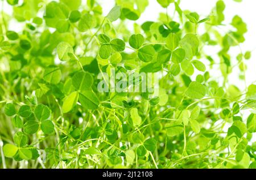
[[[230,53],[246,24],[222,31],[221,0],[209,16],[157,0],[136,23],[150,2],[1,0],[0,168],[256,168],[256,85],[228,80],[246,78],[251,52]],[[99,92],[113,69],[157,74],[159,94]]]

